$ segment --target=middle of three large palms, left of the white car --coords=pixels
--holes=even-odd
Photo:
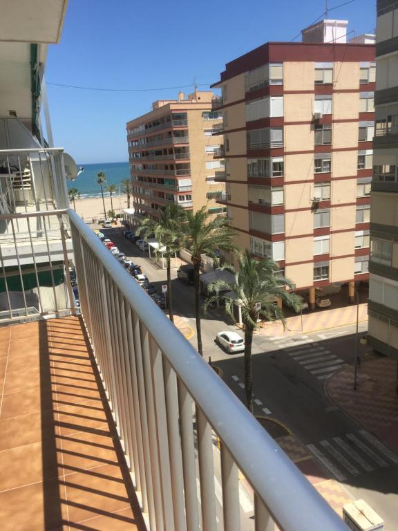
[[[199,270],[202,254],[215,256],[218,249],[235,250],[234,231],[228,226],[226,216],[211,219],[211,214],[202,207],[195,214],[186,211],[187,221],[182,225],[184,247],[191,253],[193,263],[193,283],[195,288],[196,333],[198,335],[198,352],[203,355],[202,331],[200,328],[200,280]]]

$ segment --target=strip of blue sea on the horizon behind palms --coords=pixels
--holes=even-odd
[[[119,185],[122,179],[130,178],[129,162],[106,162],[104,164],[77,164],[83,166],[84,171],[76,180],[68,180],[68,189],[77,188],[80,197],[96,197],[101,194],[101,189],[97,185],[97,174],[104,171],[107,185]],[[116,192],[115,195],[117,195]],[[106,195],[106,194],[104,194]]]

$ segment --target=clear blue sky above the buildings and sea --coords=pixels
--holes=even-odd
[[[329,0],[329,8],[344,1]],[[357,35],[370,32],[375,4],[354,0],[329,18],[348,19]],[[69,0],[61,42],[49,47],[46,80],[99,88],[182,88],[193,77],[213,83],[226,62],[267,41],[290,41],[324,10],[325,0]],[[78,163],[126,161],[126,122],[177,93],[48,85],[55,145]]]

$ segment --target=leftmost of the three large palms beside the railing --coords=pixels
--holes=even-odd
[[[138,235],[142,234],[145,240],[153,234],[155,239],[158,240],[160,248],[165,248],[164,256],[166,257],[167,263],[167,305],[169,306],[169,317],[171,322],[174,322],[171,293],[171,258],[181,248],[181,227],[184,220],[184,209],[179,205],[170,204],[160,212],[159,219],[143,219],[136,232]]]

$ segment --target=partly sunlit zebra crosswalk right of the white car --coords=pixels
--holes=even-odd
[[[314,342],[307,335],[299,337],[276,337],[274,344],[283,348],[285,353],[303,369],[310,371],[317,380],[326,380],[345,366],[344,360],[332,354],[325,346]]]

